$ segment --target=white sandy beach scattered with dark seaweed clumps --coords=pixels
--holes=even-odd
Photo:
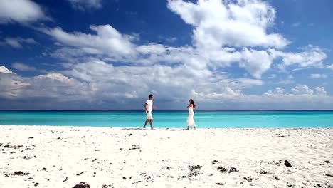
[[[0,150],[1,188],[333,186],[333,129],[1,125]]]

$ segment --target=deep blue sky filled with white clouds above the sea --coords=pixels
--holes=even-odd
[[[332,109],[332,8],[0,0],[0,109]]]

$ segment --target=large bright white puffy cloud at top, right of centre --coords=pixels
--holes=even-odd
[[[269,4],[244,0],[226,1],[169,0],[168,7],[186,23],[194,26],[194,43],[198,48],[221,46],[264,46],[283,48],[289,43],[276,33],[267,33],[273,25],[275,9]]]

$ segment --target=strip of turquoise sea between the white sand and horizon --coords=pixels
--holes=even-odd
[[[154,127],[186,127],[186,111],[154,111]],[[142,127],[144,111],[0,111],[0,125]],[[333,110],[196,111],[197,127],[333,127]]]

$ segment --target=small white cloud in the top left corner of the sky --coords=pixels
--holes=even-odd
[[[0,23],[31,23],[48,19],[41,6],[30,0],[0,0]]]

